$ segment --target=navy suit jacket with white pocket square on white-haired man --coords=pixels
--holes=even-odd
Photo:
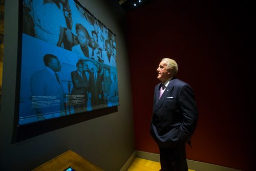
[[[151,135],[161,147],[189,142],[198,120],[194,92],[189,84],[173,78],[159,99],[161,83],[154,93]]]

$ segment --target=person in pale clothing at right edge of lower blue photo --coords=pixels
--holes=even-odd
[[[108,106],[114,106],[118,104],[118,87],[116,81],[116,74],[111,72],[110,75],[111,84],[110,84],[110,92],[108,96]]]

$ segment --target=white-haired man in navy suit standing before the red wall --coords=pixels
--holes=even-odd
[[[177,79],[175,60],[163,58],[157,68],[151,135],[160,151],[161,170],[187,171],[185,144],[190,144],[198,120],[194,92]]]

